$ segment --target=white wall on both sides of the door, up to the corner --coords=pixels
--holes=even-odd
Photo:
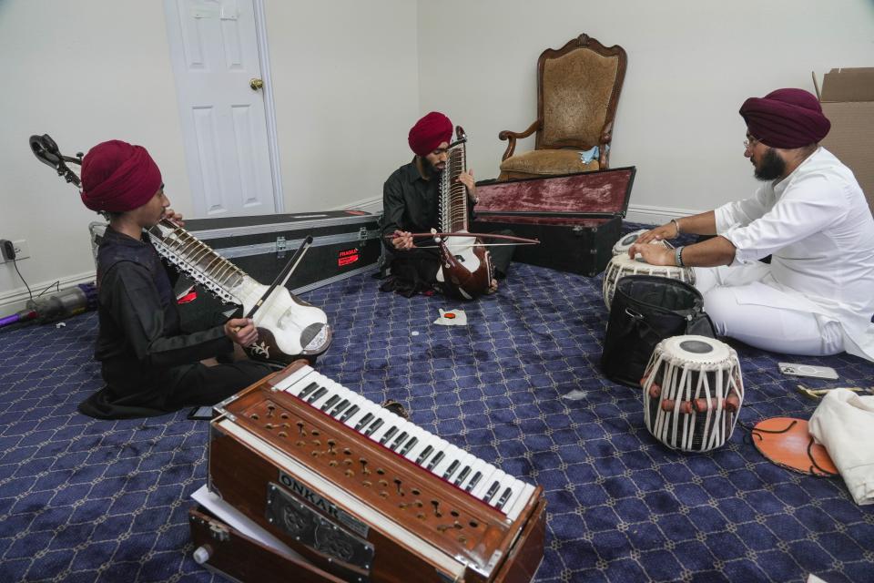
[[[381,197],[417,113],[415,3],[266,0],[265,14],[286,209]],[[34,158],[31,134],[69,155],[110,138],[145,146],[191,216],[166,31],[155,1],[0,1],[0,238],[28,241],[18,264],[32,288],[93,280],[87,224],[99,217]],[[0,265],[0,315],[25,298]]]

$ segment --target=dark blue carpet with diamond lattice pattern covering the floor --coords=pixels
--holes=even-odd
[[[874,508],[840,479],[771,465],[740,426],[707,455],[655,442],[640,395],[598,373],[600,278],[514,264],[498,294],[464,306],[467,327],[431,323],[452,302],[381,293],[368,276],[306,298],[335,330],[321,373],[544,486],[537,581],[874,581]],[[96,333],[95,313],[0,333],[0,582],[218,581],[191,558],[186,515],[207,423],[76,413],[101,386]],[[797,358],[736,348],[742,423],[809,417],[816,403],[777,371]],[[804,360],[874,385],[858,358]]]

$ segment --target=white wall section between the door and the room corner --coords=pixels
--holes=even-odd
[[[412,157],[416,3],[269,0],[265,15],[286,211],[381,199]]]

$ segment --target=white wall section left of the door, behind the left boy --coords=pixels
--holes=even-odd
[[[18,266],[32,288],[93,279],[87,225],[99,219],[34,158],[32,134],[67,155],[111,138],[144,145],[188,210],[165,30],[159,2],[0,2],[0,238],[27,240],[31,259]],[[0,304],[24,292],[12,263],[0,265]]]

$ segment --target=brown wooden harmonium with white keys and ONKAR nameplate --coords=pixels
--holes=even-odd
[[[534,578],[544,556],[541,486],[508,476],[304,361],[217,410],[209,489],[326,580]]]

